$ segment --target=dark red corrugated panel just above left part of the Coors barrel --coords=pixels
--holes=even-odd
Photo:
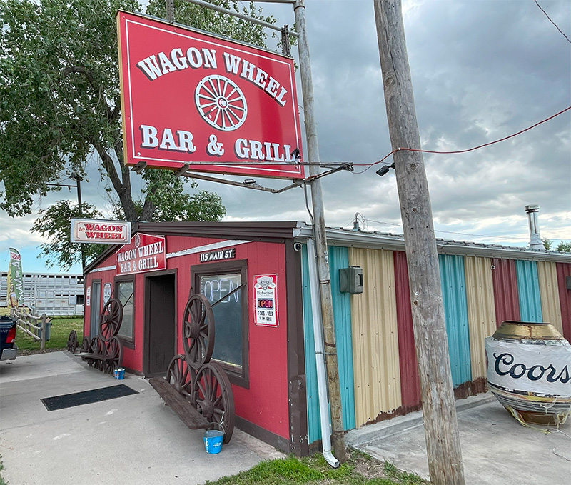
[[[520,320],[520,299],[517,292],[515,261],[492,258],[492,281],[494,283],[494,305],[496,324],[502,321]]]

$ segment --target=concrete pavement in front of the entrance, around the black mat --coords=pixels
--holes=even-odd
[[[126,384],[132,396],[47,411],[40,399]],[[138,376],[113,379],[68,352],[0,363],[1,472],[13,485],[202,484],[283,456],[235,430],[220,454]]]

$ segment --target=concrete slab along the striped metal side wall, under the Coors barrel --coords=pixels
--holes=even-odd
[[[526,428],[491,394],[461,399],[456,409],[467,485],[571,482],[571,420],[548,434]],[[349,431],[345,442],[428,479],[420,411]]]

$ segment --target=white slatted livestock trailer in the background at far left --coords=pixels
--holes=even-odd
[[[0,306],[8,306],[6,279],[0,273]],[[24,273],[24,303],[34,315],[84,314],[84,276],[81,274]]]

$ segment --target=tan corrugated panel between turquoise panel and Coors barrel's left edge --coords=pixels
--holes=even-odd
[[[487,372],[484,339],[497,328],[490,258],[466,256],[466,303],[468,304],[468,329],[470,334],[470,359],[472,379],[485,377]]]

